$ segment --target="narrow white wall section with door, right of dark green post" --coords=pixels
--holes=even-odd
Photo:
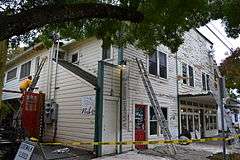
[[[102,141],[119,139],[120,68],[104,65]],[[102,146],[102,154],[116,153],[117,146]]]

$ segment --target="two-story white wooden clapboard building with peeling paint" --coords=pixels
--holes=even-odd
[[[184,38],[177,53],[160,45],[151,56],[133,46],[102,50],[102,41],[90,38],[61,46],[57,65],[52,60],[56,49],[40,43],[7,64],[4,89],[18,90],[19,82],[34,75],[39,61],[47,56],[36,91],[44,92],[46,102],[55,101],[59,107],[57,127],[48,124],[46,135],[53,136],[57,128],[56,140],[62,142],[162,139],[138,58],[149,72],[173,138],[186,130],[213,136],[217,134],[219,87],[209,52],[212,43],[197,30]],[[9,102],[19,97],[3,94]],[[99,146],[97,151],[103,155],[143,147],[147,146]]]

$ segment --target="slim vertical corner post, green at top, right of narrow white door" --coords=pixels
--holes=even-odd
[[[123,65],[123,48],[119,47],[118,48],[118,64]],[[119,146],[119,152],[122,153],[122,78],[123,78],[123,71],[122,71],[122,67],[120,70],[120,122],[119,122],[119,141],[120,141],[120,146]]]

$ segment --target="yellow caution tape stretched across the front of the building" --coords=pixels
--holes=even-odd
[[[240,138],[240,134],[234,135],[228,138],[203,138],[203,139],[190,139],[190,140],[149,140],[149,141],[110,141],[110,142],[44,142],[42,144],[45,145],[72,145],[72,146],[80,146],[80,145],[146,145],[146,144],[182,144],[182,143],[197,143],[197,142],[209,142],[209,141],[229,141],[231,139]],[[37,138],[30,138],[31,141],[38,142]]]

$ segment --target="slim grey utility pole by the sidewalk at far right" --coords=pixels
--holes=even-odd
[[[223,99],[225,97],[225,85],[224,77],[219,78],[219,88],[220,88],[220,107],[221,107],[221,121],[222,121],[222,137],[223,137],[223,158],[226,160],[226,142],[225,142],[225,129],[224,129],[224,103]]]

